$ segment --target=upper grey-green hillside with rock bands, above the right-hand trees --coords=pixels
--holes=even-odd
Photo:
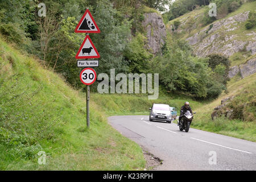
[[[187,40],[197,56],[221,53],[229,56],[232,67],[245,64],[249,60],[255,62],[256,27],[250,30],[245,28],[249,13],[254,12],[255,7],[255,1],[245,3],[225,18],[218,19],[207,26],[201,22],[204,7],[171,20],[167,23],[167,30],[173,34],[174,22],[179,21],[181,24],[175,30],[176,35]]]

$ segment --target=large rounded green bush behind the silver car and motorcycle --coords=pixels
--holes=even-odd
[[[152,72],[159,73],[161,84],[173,93],[205,99],[217,97],[225,89],[222,67],[214,72],[208,67],[208,59],[192,56],[192,49],[183,40],[171,40],[163,56],[152,59],[150,67]]]

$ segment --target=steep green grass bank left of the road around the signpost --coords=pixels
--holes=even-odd
[[[123,137],[85,95],[38,61],[0,39],[1,170],[131,170],[146,161],[138,144]],[[45,151],[46,165],[38,164]]]

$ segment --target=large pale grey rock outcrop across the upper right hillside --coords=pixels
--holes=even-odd
[[[236,34],[228,34],[240,27],[242,22],[248,19],[250,11],[222,19],[206,27],[195,35],[187,38],[188,43],[195,48],[197,56],[207,56],[212,53],[222,53],[231,56],[236,52],[246,49],[251,54],[256,53],[255,33],[243,35],[250,38],[250,41],[241,40]]]

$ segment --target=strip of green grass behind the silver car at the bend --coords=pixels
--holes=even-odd
[[[158,100],[148,100],[143,94],[92,94],[96,104],[101,106],[101,110],[108,115],[148,115],[148,108],[152,104],[168,104],[178,110],[184,105],[185,101],[191,103],[196,109],[203,106],[203,102],[192,100],[185,96],[168,96],[160,94]]]

